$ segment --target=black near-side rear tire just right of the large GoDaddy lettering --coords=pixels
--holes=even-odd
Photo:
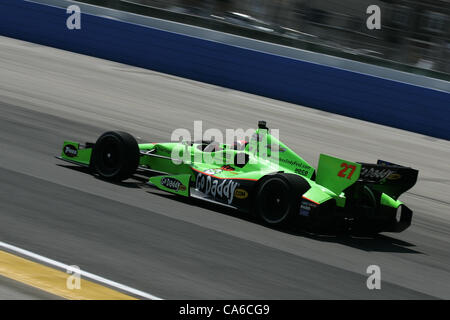
[[[301,196],[309,189],[308,182],[295,174],[277,173],[264,177],[255,197],[258,218],[268,226],[286,226],[298,216]]]

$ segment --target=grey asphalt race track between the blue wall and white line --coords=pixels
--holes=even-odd
[[[64,139],[110,129],[154,142],[194,120],[261,119],[314,166],[323,152],[419,169],[401,198],[413,225],[375,239],[282,232],[54,158]],[[450,299],[449,141],[0,38],[0,150],[0,241],[163,299]],[[381,290],[366,287],[369,265]]]

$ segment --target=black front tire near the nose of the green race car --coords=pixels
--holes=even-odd
[[[91,168],[100,177],[111,181],[130,178],[139,165],[139,146],[136,139],[122,131],[103,133],[95,143]]]

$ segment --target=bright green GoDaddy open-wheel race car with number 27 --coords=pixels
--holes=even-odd
[[[264,121],[249,141],[232,144],[138,144],[128,133],[110,131],[95,143],[65,141],[58,158],[111,181],[145,175],[153,187],[250,213],[269,226],[296,223],[369,234],[411,225],[412,211],[398,198],[418,176],[415,169],[386,161],[357,163],[325,154],[314,169]]]

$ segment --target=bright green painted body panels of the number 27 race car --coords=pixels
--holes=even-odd
[[[263,141],[267,141],[267,145]],[[69,144],[77,149],[76,156],[70,157],[64,153],[64,148]],[[186,186],[189,186],[189,182],[195,181],[196,172],[219,179],[255,181],[277,172],[296,174],[302,176],[311,186],[303,198],[317,204],[334,199],[338,207],[346,205],[345,190],[359,179],[361,171],[359,163],[321,154],[315,172],[309,163],[269,134],[267,129],[257,129],[244,150],[235,150],[230,145],[219,144],[215,151],[203,152],[199,149],[200,146],[202,146],[200,143],[187,142],[139,144],[141,151],[139,166],[169,174]],[[71,162],[89,165],[91,152],[91,148],[80,148],[78,143],[66,141],[61,157]],[[234,165],[233,159],[237,154],[248,156],[248,163],[242,168]],[[150,183],[164,191],[189,196],[189,188],[174,191],[164,187],[161,179],[161,176],[152,177]],[[397,208],[401,202],[388,193],[383,193],[381,204]]]

